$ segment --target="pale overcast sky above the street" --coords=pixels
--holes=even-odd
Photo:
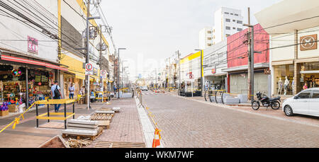
[[[175,51],[181,57],[198,48],[198,32],[213,26],[213,13],[221,6],[242,11],[247,23],[250,7],[252,24],[254,13],[281,0],[101,0],[101,8],[113,27],[116,47],[121,59],[128,60],[130,75],[145,76],[150,70],[164,67],[164,59]]]

